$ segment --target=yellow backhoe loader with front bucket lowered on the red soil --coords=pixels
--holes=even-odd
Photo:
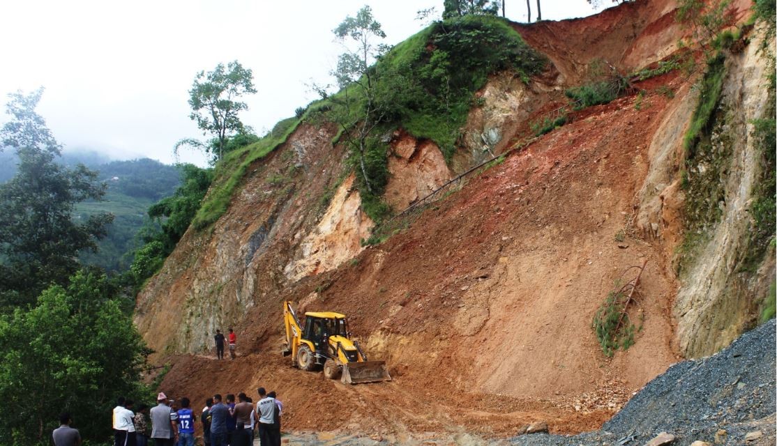
[[[284,302],[286,348],[291,363],[302,370],[324,369],[329,379],[343,384],[391,381],[385,361],[368,361],[359,343],[350,340],[345,315],[305,313],[305,330],[291,302]]]

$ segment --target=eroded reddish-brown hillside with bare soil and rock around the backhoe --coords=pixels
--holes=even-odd
[[[615,101],[570,110],[566,125],[541,137],[532,129],[596,62],[632,73],[677,54],[686,31],[675,6],[634,2],[587,19],[514,25],[549,67],[526,84],[510,73],[490,78],[449,162],[429,140],[389,134],[385,200],[400,210],[491,154],[506,154],[503,162],[456,182],[375,246],[361,244],[374,223],[344,148],[332,143],[336,127],[302,123],[249,165],[226,213],[209,230],[190,228],[138,296],[138,327],[157,359],[174,364],[162,389],[195,401],[278,389],[290,430],[402,441],[502,436],[546,420],[573,433],[600,427],[674,362],[730,343],[752,325],[774,278],[769,262],[737,273],[758,178],[748,123],[768,102],[763,33],[748,29],[750,44],[726,58],[716,116],[736,117],[713,124],[736,141],[721,180],[726,199],[681,269],[682,144],[698,71],[634,79]],[[749,6],[734,5],[738,21]],[[622,272],[644,262],[642,330],[607,358],[592,317]],[[279,353],[284,300],[301,312],[347,314],[394,381],[345,387],[291,368]],[[238,333],[240,356],[215,361],[212,335],[226,327]]]

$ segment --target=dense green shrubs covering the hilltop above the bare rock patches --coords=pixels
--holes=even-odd
[[[463,16],[435,22],[394,47],[375,65],[385,120],[433,140],[450,161],[472,105],[488,76],[512,70],[524,81],[545,67],[504,19]]]

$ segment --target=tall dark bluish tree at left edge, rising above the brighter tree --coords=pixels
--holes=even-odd
[[[98,213],[78,222],[74,206],[99,200],[105,185],[78,164],[55,162],[61,146],[35,112],[43,88],[16,92],[8,102],[12,119],[0,130],[2,146],[16,150],[16,175],[0,185],[0,307],[29,305],[51,284],[64,285],[79,267],[78,253],[96,249],[113,220]]]

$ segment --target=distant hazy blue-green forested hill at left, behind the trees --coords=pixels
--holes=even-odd
[[[0,152],[0,183],[16,174],[16,154]],[[131,161],[110,161],[96,152],[65,152],[61,164],[85,164],[99,172],[100,181],[108,190],[102,202],[82,202],[76,206],[77,218],[109,212],[115,217],[108,235],[100,240],[96,253],[82,253],[85,264],[94,264],[108,271],[124,271],[132,261],[127,253],[134,248],[135,235],[148,221],[146,211],[153,203],[172,195],[179,185],[178,169],[149,158]]]

